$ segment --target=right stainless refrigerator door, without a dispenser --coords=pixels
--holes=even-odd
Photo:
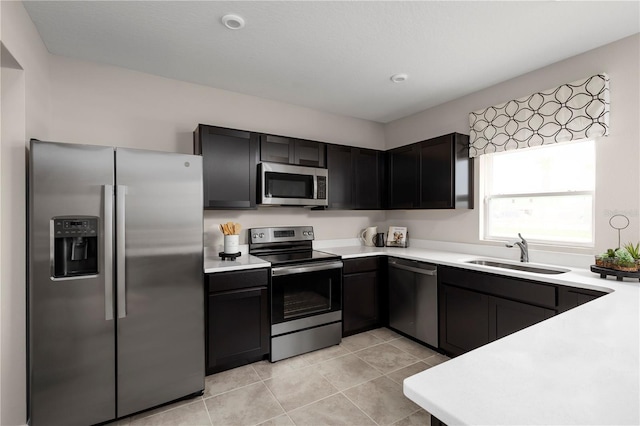
[[[118,148],[116,183],[121,417],[204,389],[202,159]]]

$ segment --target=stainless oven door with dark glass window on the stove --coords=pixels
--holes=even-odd
[[[342,261],[272,269],[272,325],[341,310]]]

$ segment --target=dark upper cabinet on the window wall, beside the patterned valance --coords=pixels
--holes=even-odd
[[[388,151],[391,209],[473,208],[469,136],[451,133]]]

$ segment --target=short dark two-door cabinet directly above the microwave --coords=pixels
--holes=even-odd
[[[260,160],[326,167],[326,144],[284,136],[260,135]]]

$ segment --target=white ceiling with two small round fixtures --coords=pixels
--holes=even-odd
[[[639,1],[24,3],[52,54],[382,123],[640,32]]]

